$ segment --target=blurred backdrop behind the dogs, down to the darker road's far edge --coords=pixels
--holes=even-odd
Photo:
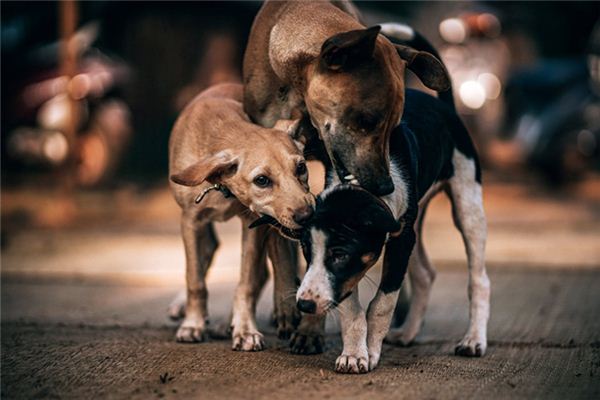
[[[599,267],[600,4],[357,6],[367,24],[408,23],[440,50],[485,169],[489,264]],[[259,7],[2,2],[3,285],[183,285],[170,129],[195,94],[240,81]],[[438,265],[463,268],[448,210],[440,197],[426,241]],[[219,227],[213,281],[237,279],[238,225]]]

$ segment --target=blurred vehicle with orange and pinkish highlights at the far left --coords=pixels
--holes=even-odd
[[[7,136],[12,161],[73,174],[82,186],[114,172],[132,129],[128,107],[113,94],[129,74],[124,63],[92,46],[97,37],[91,23],[69,40],[77,59],[72,77],[60,68],[60,43],[31,51],[39,68],[11,99],[11,117],[19,121]]]

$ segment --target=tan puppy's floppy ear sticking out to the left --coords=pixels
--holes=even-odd
[[[225,153],[206,157],[190,165],[178,174],[171,175],[171,180],[183,186],[198,186],[204,181],[219,183],[237,171],[238,161]]]

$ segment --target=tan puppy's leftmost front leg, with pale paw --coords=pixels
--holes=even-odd
[[[206,339],[208,322],[205,277],[219,242],[213,225],[198,221],[195,215],[182,215],[181,232],[185,245],[187,298],[185,318],[175,336],[178,342],[202,342]]]

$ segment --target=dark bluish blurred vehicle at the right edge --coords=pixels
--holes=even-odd
[[[600,170],[599,27],[587,58],[542,59],[506,85],[505,131],[548,183]]]

